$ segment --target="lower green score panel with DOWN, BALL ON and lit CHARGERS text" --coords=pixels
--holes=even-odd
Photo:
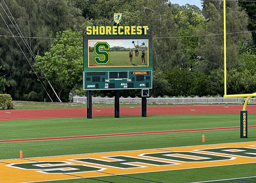
[[[152,88],[152,71],[84,72],[84,90]]]

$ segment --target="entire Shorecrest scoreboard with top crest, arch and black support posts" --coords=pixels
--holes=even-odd
[[[114,118],[119,118],[119,90],[125,89],[146,90],[141,100],[142,117],[147,117],[146,97],[149,97],[149,89],[153,88],[151,27],[122,19],[122,13],[114,13],[113,19],[97,21],[84,27],[82,35],[83,90],[88,90],[87,118],[92,118],[92,90],[115,90]],[[132,58],[131,50],[135,50],[131,46],[136,43],[138,46],[135,47],[140,48],[142,57],[134,57],[133,63],[131,60],[129,63],[129,58]],[[120,58],[125,61],[118,62]]]

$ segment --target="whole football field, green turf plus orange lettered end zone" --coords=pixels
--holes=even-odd
[[[239,113],[3,120],[0,182],[256,182],[256,114],[248,120],[248,139],[224,129]]]

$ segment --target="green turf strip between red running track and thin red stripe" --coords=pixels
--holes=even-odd
[[[239,114],[218,114],[10,120],[1,121],[0,140],[236,127],[239,119]],[[256,125],[256,114],[250,114],[249,125]]]

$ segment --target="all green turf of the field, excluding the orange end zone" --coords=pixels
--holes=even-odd
[[[239,126],[239,114],[227,115],[161,115],[141,118],[138,116],[87,118],[58,118],[36,120],[1,121],[0,140],[60,137],[93,134],[112,134],[145,131],[165,131],[198,128],[218,128]],[[248,124],[256,125],[256,114],[249,115]],[[205,135],[205,143],[201,141]],[[85,154],[113,151],[129,151],[166,147],[179,147],[204,144],[256,141],[256,129],[248,129],[248,139],[240,139],[240,130],[218,130],[204,132],[182,132],[150,135],[113,136],[101,138],[66,139],[51,141],[0,143],[0,159],[19,158],[23,150],[24,158]],[[217,181],[220,183],[256,182],[255,163],[243,165],[216,166],[169,170],[151,173],[126,174],[92,177],[72,180],[46,181],[47,183],[188,183]],[[96,180],[95,180],[96,179]],[[214,183],[217,183],[216,181]]]

